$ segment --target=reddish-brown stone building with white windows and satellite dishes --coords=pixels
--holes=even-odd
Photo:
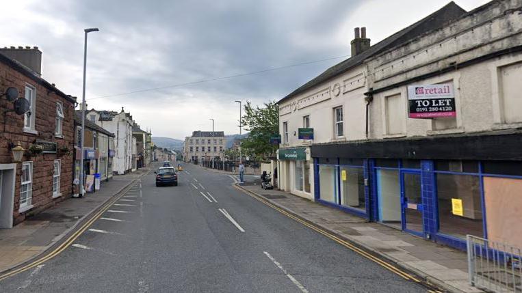
[[[0,228],[10,228],[71,194],[73,115],[76,98],[40,77],[37,47],[0,49],[0,92],[18,89],[29,111],[18,115],[14,101],[0,98]],[[16,98],[16,97],[15,97]],[[21,162],[12,148],[25,149]]]

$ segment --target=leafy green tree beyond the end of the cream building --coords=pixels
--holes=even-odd
[[[252,107],[246,102],[242,124],[248,131],[248,137],[242,140],[243,150],[250,150],[256,156],[267,158],[274,156],[278,145],[270,144],[270,137],[279,133],[279,109],[276,102],[267,102],[263,108]]]

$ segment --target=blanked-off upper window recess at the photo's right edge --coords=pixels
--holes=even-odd
[[[501,109],[505,123],[522,122],[522,62],[501,67],[499,70]]]

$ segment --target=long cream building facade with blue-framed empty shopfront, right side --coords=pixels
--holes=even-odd
[[[425,31],[421,20],[405,29],[416,35],[284,98],[282,169],[281,152],[304,148],[322,204],[460,249],[466,234],[521,243],[508,224],[522,221],[521,5],[452,8],[453,20]],[[291,136],[306,115],[310,145]]]

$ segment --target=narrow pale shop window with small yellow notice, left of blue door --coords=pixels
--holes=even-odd
[[[363,168],[341,166],[340,169],[341,205],[366,210]]]

